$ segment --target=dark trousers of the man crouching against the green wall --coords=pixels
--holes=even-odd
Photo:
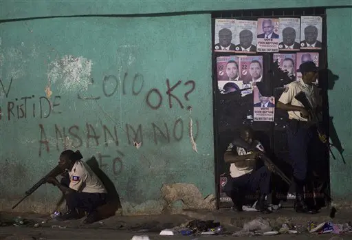
[[[69,187],[69,175],[61,179],[63,186]],[[87,213],[94,212],[96,208],[107,203],[106,193],[79,193],[74,192],[65,196],[68,210],[82,209]]]

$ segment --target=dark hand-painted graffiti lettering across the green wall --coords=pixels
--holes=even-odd
[[[117,76],[107,75],[99,82],[89,77],[89,87],[101,86],[101,91],[90,91],[87,85],[77,93],[78,101],[99,102],[103,98],[111,98],[118,94],[131,96],[142,96],[144,106],[151,111],[160,109],[164,106],[166,109],[192,109],[188,104],[192,92],[195,91],[194,80],[177,80],[175,83],[166,79],[164,86],[146,89],[144,86],[144,76],[142,74],[124,73],[122,80]],[[190,139],[192,149],[197,152],[195,141],[199,135],[199,121],[194,122],[177,118],[175,120],[157,120],[157,122],[126,122],[116,124],[113,122],[102,123],[99,127],[92,122],[74,123],[71,125],[52,124],[45,122],[47,118],[55,114],[64,114],[61,109],[62,96],[21,96],[10,98],[13,88],[12,78],[5,82],[0,79],[0,87],[6,101],[0,105],[0,120],[12,122],[14,120],[40,118],[39,127],[39,157],[52,151],[61,151],[74,147],[75,149],[109,149],[123,146],[123,144],[140,144],[149,142],[155,146],[161,144],[170,144],[180,142],[183,139]],[[84,90],[84,91],[83,91]],[[120,90],[120,92],[118,92]],[[179,94],[175,94],[175,90]],[[45,89],[47,91],[47,89]],[[94,94],[89,94],[94,92]],[[141,103],[135,103],[136,106],[142,106]],[[52,122],[52,121],[51,121]],[[67,140],[70,144],[67,144]],[[119,175],[123,171],[122,151],[115,151],[115,155],[108,155],[97,152],[100,167],[111,166],[114,175]]]

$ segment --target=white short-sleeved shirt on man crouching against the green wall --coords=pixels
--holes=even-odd
[[[83,161],[78,160],[69,171],[69,188],[83,193],[107,193],[99,177]]]

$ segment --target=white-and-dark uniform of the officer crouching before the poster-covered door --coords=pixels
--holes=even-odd
[[[256,148],[259,151],[264,151],[263,145],[258,142]],[[234,146],[230,143],[226,152],[232,152],[235,155],[249,155],[250,152],[243,149],[241,146]],[[255,170],[256,160],[248,158],[248,166],[240,168],[234,163],[230,165],[230,177],[228,182],[224,186],[224,192],[228,195],[234,204],[239,207],[243,203],[243,199],[239,199],[245,196],[246,193],[255,193],[259,188],[262,195],[270,193],[270,177],[271,173],[266,166]]]

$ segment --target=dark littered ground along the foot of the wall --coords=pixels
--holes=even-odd
[[[24,214],[18,212],[0,212],[0,221],[11,223],[14,217],[21,216],[29,219],[26,226],[3,226],[0,227],[0,239],[6,240],[49,240],[49,239],[131,239],[134,235],[146,234],[150,239],[219,239],[219,236],[173,236],[160,237],[159,232],[165,228],[180,226],[192,219],[219,221],[228,231],[227,236],[221,239],[352,239],[352,234],[309,234],[307,226],[309,222],[321,223],[331,221],[333,223],[349,223],[351,226],[352,210],[338,210],[336,217],[329,217],[329,210],[322,210],[317,215],[297,214],[292,208],[283,208],[270,215],[259,212],[241,212],[237,214],[231,210],[195,211],[184,210],[179,215],[155,215],[126,217],[115,215],[108,219],[82,225],[82,220],[56,221],[48,215]],[[273,228],[280,228],[283,223],[296,226],[300,234],[280,234],[277,236],[233,237],[232,232],[243,228],[243,224],[252,221],[256,217],[263,217],[270,222]],[[36,224],[36,225],[35,225]]]

